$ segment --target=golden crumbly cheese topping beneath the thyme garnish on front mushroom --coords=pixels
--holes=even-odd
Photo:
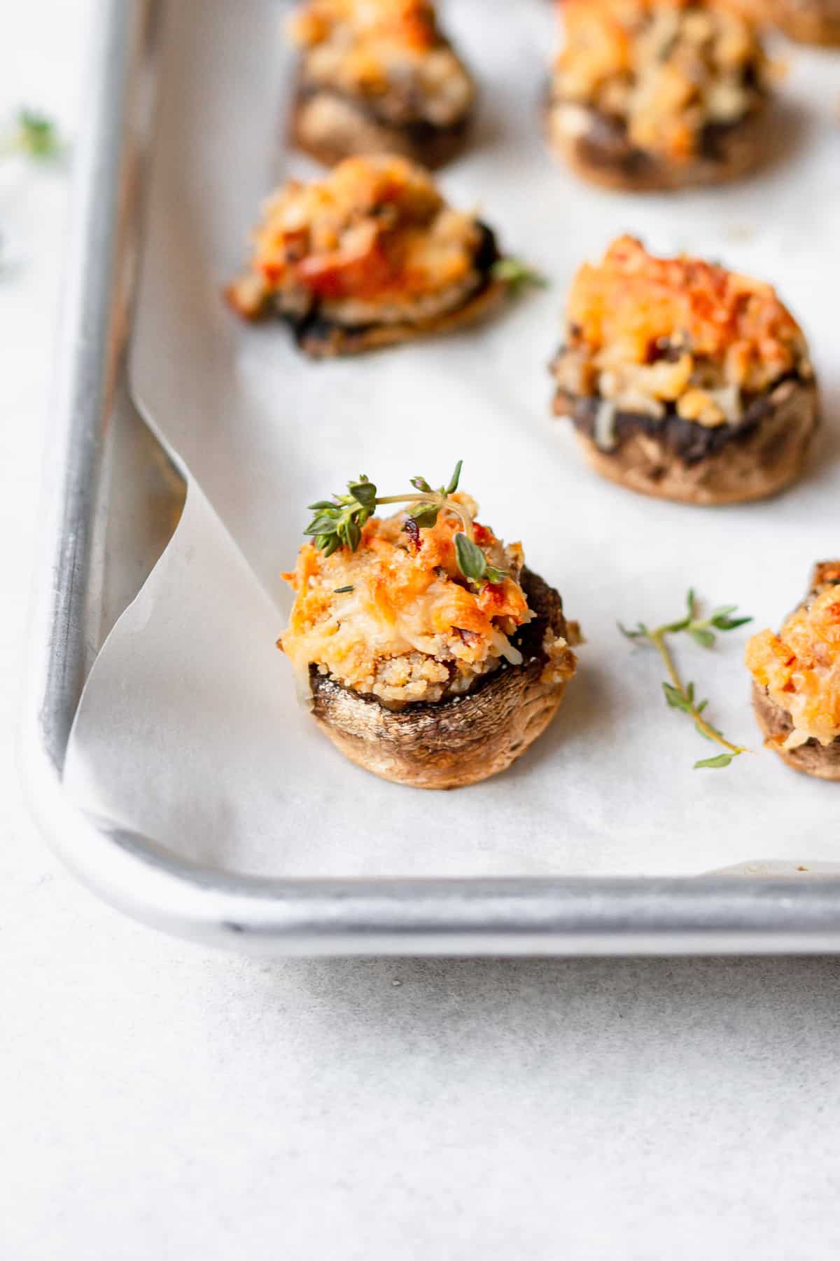
[[[475,516],[467,496],[455,498]],[[312,543],[301,547],[296,570],[283,575],[296,595],[278,641],[298,677],[315,665],[343,686],[399,707],[465,692],[502,660],[521,662],[510,636],[534,614],[518,581],[519,543],[504,547],[475,523],[489,562],[509,572],[476,590],[456,562],[460,518],[441,512],[419,531],[418,545],[404,522],[404,513],[373,517],[355,552],[341,547],[327,557]]]

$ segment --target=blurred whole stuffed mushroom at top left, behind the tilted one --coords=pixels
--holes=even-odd
[[[302,54],[293,139],[319,161],[440,166],[462,146],[475,86],[428,0],[306,0],[288,30]]]

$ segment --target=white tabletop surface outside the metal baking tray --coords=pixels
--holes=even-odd
[[[78,121],[94,0],[3,6]],[[156,937],[15,769],[65,180],[3,180],[0,1256],[811,1261],[840,1251],[840,962],[290,961]]]

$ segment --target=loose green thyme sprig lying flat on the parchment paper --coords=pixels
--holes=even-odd
[[[679,618],[676,622],[666,622],[665,625],[650,629],[644,622],[639,622],[635,630],[628,630],[626,627],[618,623],[618,629],[628,639],[642,641],[652,644],[659,652],[660,657],[665,663],[667,676],[670,682],[662,683],[662,691],[665,694],[665,702],[676,710],[681,710],[688,714],[694,721],[695,730],[705,736],[707,740],[713,740],[719,744],[724,752],[719,753],[714,758],[704,758],[701,762],[694,763],[694,769],[709,769],[719,770],[724,767],[730,765],[730,763],[741,757],[742,753],[749,753],[751,750],[741,744],[732,744],[727,740],[722,731],[717,726],[709,723],[708,718],[704,716],[704,710],[709,704],[708,700],[699,701],[695,695],[694,683],[684,683],[674,656],[667,644],[667,636],[686,633],[694,639],[700,648],[714,648],[717,643],[715,630],[737,630],[738,627],[746,625],[752,622],[752,618],[739,618],[733,617],[737,612],[737,604],[722,604],[720,608],[713,609],[708,618],[701,618],[698,613],[696,596],[693,590],[688,593],[686,596],[686,613],[684,617]]]

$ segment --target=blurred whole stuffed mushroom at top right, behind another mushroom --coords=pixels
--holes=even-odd
[[[768,74],[756,29],[723,0],[567,0],[548,134],[594,184],[708,184],[761,156]]]

